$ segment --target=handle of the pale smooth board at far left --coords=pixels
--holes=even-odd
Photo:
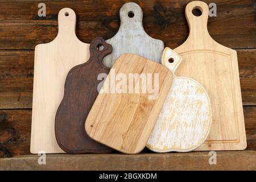
[[[76,38],[76,13],[70,8],[64,8],[58,14],[58,35],[60,40]]]

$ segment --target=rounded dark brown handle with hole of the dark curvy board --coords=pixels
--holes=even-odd
[[[109,55],[112,52],[112,46],[105,42],[103,38],[95,38],[90,43],[90,59],[96,59],[98,63],[105,67],[102,63],[102,60],[105,56]]]

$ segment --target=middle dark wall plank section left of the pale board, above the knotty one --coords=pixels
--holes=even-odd
[[[0,108],[31,108],[34,51],[0,51]]]

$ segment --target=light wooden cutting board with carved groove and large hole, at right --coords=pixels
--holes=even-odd
[[[193,15],[193,9],[201,10],[201,16]],[[196,150],[243,150],[246,135],[237,53],[210,37],[208,14],[204,2],[193,1],[186,6],[190,31],[188,39],[174,49],[183,58],[176,75],[199,81],[212,103],[212,129],[207,141]]]

